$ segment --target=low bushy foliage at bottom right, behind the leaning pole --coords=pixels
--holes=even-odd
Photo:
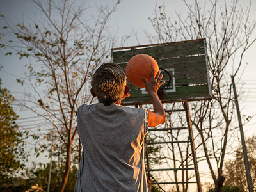
[[[250,163],[251,177],[253,188],[256,189],[256,136],[246,140],[247,154]],[[229,159],[225,163],[225,184],[238,186],[246,191],[247,180],[244,166],[244,156],[241,145],[234,152],[234,159]]]

